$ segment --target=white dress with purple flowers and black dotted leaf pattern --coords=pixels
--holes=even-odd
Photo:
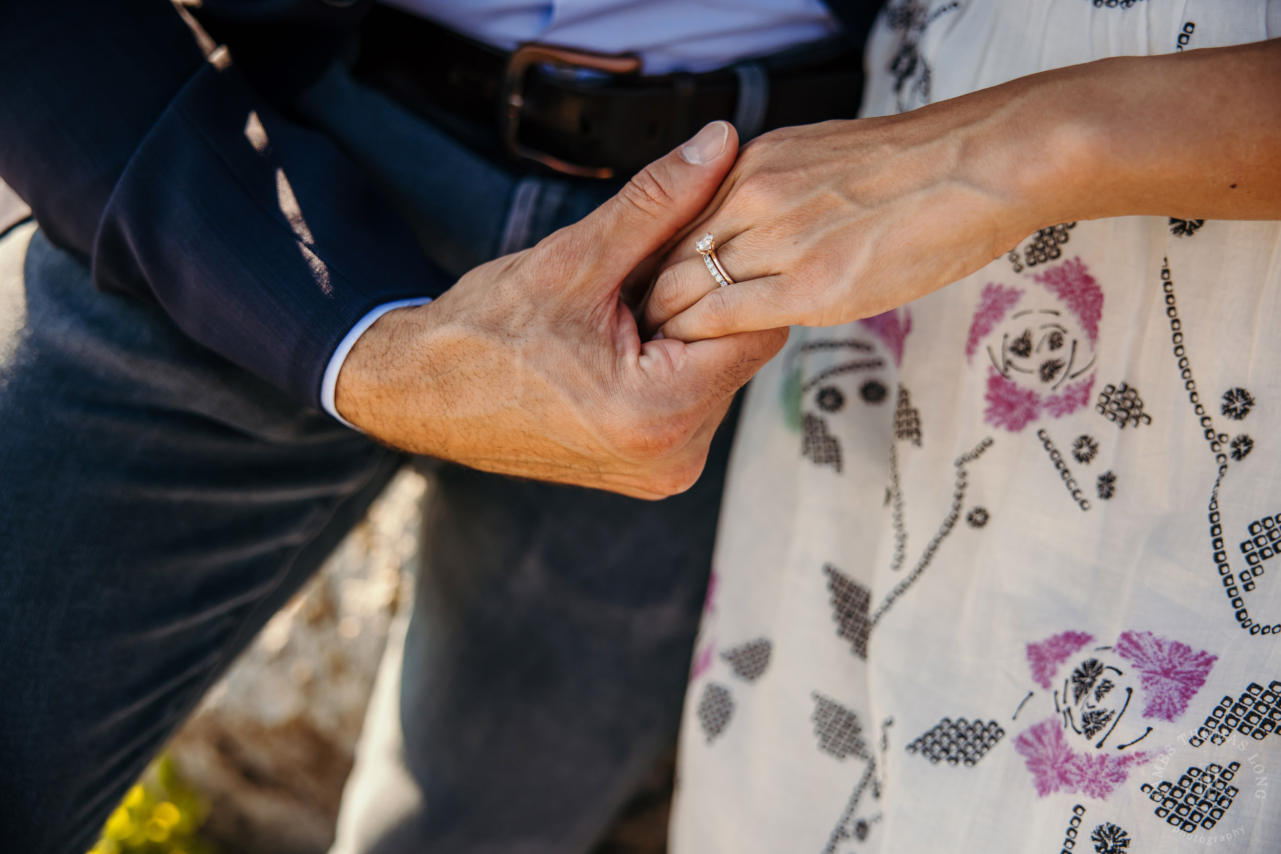
[[[893,0],[866,111],[1278,12]],[[1277,425],[1278,223],[1063,223],[793,329],[739,426],[675,854],[1281,851]]]

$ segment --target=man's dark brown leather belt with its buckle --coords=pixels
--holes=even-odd
[[[853,118],[863,86],[862,56],[843,38],[706,74],[639,69],[637,56],[550,45],[509,54],[377,5],[354,73],[485,154],[583,178],[626,178],[716,119],[746,141]]]

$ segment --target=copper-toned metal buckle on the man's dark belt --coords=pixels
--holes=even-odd
[[[546,151],[530,149],[520,142],[520,110],[525,105],[525,76],[530,67],[542,64],[570,69],[591,68],[611,74],[634,74],[640,70],[640,58],[628,54],[593,54],[570,47],[528,42],[516,47],[511,54],[502,76],[502,88],[498,93],[498,128],[507,151],[566,175],[612,178],[614,169],[608,166],[583,166],[566,163]]]

